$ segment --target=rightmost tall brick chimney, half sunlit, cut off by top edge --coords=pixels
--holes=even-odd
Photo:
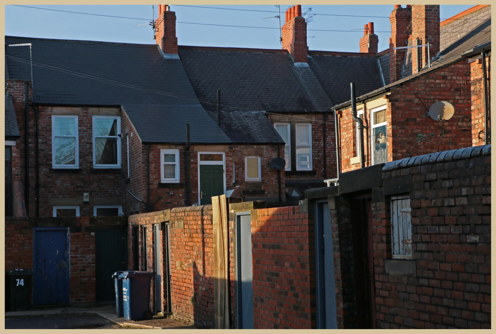
[[[412,5],[411,45],[431,44],[431,58],[439,51],[439,5]],[[418,50],[417,50],[418,49]],[[416,48],[412,52],[413,73],[429,64],[427,47]],[[419,69],[418,69],[419,68]]]

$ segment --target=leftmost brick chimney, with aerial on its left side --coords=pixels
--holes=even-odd
[[[170,11],[167,4],[158,5],[158,17],[155,21],[155,42],[164,54],[178,54],[176,37],[176,12]]]

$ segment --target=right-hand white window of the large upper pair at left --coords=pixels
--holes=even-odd
[[[121,167],[121,118],[93,116],[93,167]]]

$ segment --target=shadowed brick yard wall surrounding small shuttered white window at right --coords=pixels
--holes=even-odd
[[[389,199],[372,203],[377,328],[491,328],[491,146],[438,154],[383,169],[383,179],[413,178],[416,273],[385,271]]]

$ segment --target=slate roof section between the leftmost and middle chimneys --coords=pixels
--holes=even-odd
[[[179,46],[187,76],[206,110],[321,112],[331,103],[309,67],[295,67],[282,50]]]

